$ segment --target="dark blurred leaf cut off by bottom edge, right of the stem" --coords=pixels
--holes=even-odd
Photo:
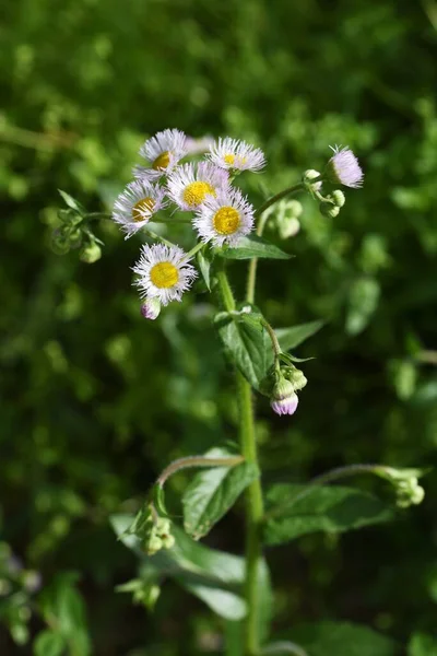
[[[286,637],[308,656],[394,656],[394,641],[350,622],[315,622],[296,626]],[[429,656],[429,655],[427,655]]]

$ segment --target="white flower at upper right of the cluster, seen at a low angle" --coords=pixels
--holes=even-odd
[[[239,139],[218,139],[210,148],[209,159],[221,168],[233,171],[261,171],[265,164],[264,153]]]

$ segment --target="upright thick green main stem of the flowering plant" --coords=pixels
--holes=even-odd
[[[224,268],[217,272],[217,281],[225,309],[227,309],[227,312],[233,312],[236,305]],[[251,388],[239,371],[236,371],[236,382],[239,406],[241,454],[247,462],[253,462],[258,466]],[[245,596],[248,611],[245,622],[245,656],[257,656],[259,654],[258,608],[260,591],[258,586],[258,567],[262,557],[260,530],[264,513],[260,479],[253,481],[247,489],[246,507]]]

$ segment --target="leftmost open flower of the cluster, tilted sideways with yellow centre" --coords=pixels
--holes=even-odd
[[[121,225],[126,238],[131,237],[152,215],[165,207],[165,189],[145,179],[130,183],[114,203],[113,219]]]

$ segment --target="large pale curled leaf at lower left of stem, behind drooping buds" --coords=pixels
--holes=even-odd
[[[113,515],[110,522],[119,539],[142,558],[144,564],[142,575],[147,579],[153,576],[156,578],[172,576],[225,619],[240,620],[246,616],[245,559],[209,549],[192,540],[175,525],[172,527],[176,539],[175,547],[160,551],[152,558],[146,557],[141,550],[138,538],[126,534],[132,519],[132,515]],[[264,561],[260,561],[258,576],[260,589],[263,590],[259,610],[261,636],[267,634],[272,606],[269,570]],[[218,594],[220,591],[227,594]]]

